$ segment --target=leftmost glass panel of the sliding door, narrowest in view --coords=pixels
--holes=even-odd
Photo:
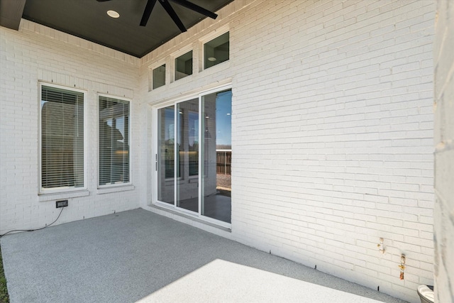
[[[175,106],[157,110],[157,199],[175,203]]]

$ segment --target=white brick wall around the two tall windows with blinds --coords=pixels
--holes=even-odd
[[[137,187],[138,59],[22,20],[19,31],[0,27],[0,233],[39,228],[57,219],[55,200],[69,197],[56,224],[139,206],[138,189],[98,194],[97,94],[132,100],[133,184]],[[38,197],[38,81],[84,89],[87,97],[87,187],[82,194]]]

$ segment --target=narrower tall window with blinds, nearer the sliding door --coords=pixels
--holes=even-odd
[[[129,101],[99,96],[99,186],[129,178]]]

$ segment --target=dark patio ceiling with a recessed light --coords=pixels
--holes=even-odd
[[[26,0],[22,18],[135,57],[143,57],[181,33],[160,5],[161,0],[156,1],[146,26],[139,26],[147,1]],[[190,0],[192,4],[212,12],[231,1]],[[186,28],[206,18],[174,1],[169,2]],[[117,11],[120,17],[109,17],[106,13],[109,10]]]

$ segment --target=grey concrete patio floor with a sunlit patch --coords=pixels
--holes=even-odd
[[[143,209],[1,238],[16,302],[404,302]]]

